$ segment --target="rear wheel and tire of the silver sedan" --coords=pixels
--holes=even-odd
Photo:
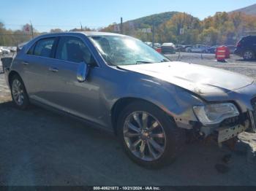
[[[29,106],[29,96],[26,93],[22,79],[17,74],[11,78],[10,89],[15,107],[23,110],[27,109]]]

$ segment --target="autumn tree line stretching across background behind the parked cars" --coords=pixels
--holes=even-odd
[[[242,12],[217,12],[214,16],[199,20],[185,12],[169,14],[170,19],[157,17],[157,22],[147,17],[147,22],[123,24],[123,32],[135,36],[143,42],[152,41],[152,33],[144,33],[142,28],[153,28],[155,42],[173,42],[175,44],[236,44],[241,36],[256,31],[256,16],[246,15]],[[156,19],[154,17],[154,19]],[[151,20],[151,22],[150,22]],[[162,21],[162,22],[161,22]],[[154,23],[154,24],[153,24]],[[73,28],[70,31],[108,31],[113,32],[113,23],[105,28]],[[29,26],[26,24],[25,26]],[[25,26],[20,30],[10,30],[0,23],[0,46],[17,46],[32,38],[31,33],[26,33]],[[30,26],[31,27],[31,26]],[[33,36],[46,34],[33,28]],[[50,33],[63,32],[60,28],[53,28]]]

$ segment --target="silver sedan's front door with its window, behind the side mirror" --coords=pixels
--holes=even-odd
[[[90,65],[89,79],[78,82],[79,64]],[[58,109],[86,120],[101,123],[99,78],[102,70],[86,44],[74,36],[62,36],[56,50],[56,61],[48,72],[48,98]]]

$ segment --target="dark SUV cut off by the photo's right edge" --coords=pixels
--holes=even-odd
[[[244,60],[252,60],[256,54],[256,36],[244,36],[237,44],[234,52],[244,58]]]

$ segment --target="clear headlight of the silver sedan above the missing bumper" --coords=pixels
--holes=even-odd
[[[217,124],[229,117],[239,115],[238,109],[231,103],[194,106],[193,109],[198,120],[204,125]]]

